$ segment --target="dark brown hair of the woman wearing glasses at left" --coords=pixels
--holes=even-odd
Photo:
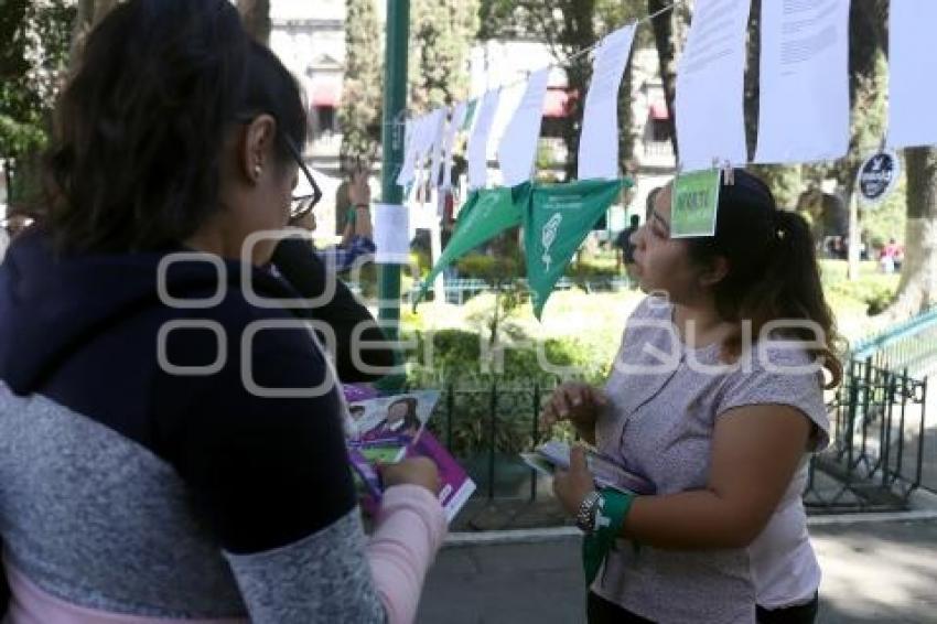
[[[63,90],[35,216],[65,250],[177,244],[218,211],[225,137],[260,112],[304,143],[295,82],[230,2],[128,0],[90,33]]]

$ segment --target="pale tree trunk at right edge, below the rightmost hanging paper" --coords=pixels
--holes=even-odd
[[[905,255],[897,295],[884,312],[894,320],[919,314],[937,299],[937,149],[907,149],[905,163]]]

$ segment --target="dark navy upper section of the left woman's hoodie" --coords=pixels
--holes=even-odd
[[[262,330],[243,353],[251,323],[295,321],[282,308],[251,305],[241,267],[224,261],[220,302],[180,309],[161,302],[164,252],[56,256],[39,230],[13,241],[0,266],[0,380],[41,395],[142,444],[169,462],[229,552],[290,544],[347,514],[355,504],[346,467],[341,401],[333,388],[311,398],[248,391],[243,368],[265,388],[312,388],[331,380],[321,351],[302,327]],[[256,292],[298,297],[273,272],[251,269]],[[169,293],[211,298],[218,268],[176,261]],[[158,342],[175,329],[165,359],[208,375],[168,373]],[[226,354],[219,354],[224,349]],[[220,357],[226,355],[226,357]],[[262,422],[262,427],[258,427]],[[261,431],[261,434],[258,434]]]

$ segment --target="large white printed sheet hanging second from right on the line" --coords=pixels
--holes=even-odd
[[[849,0],[762,3],[760,163],[849,149]]]

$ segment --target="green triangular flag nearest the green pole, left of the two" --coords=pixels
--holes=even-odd
[[[505,229],[520,225],[524,220],[524,209],[530,194],[530,183],[517,186],[482,189],[472,191],[465,205],[459,212],[459,218],[452,233],[452,238],[432,270],[423,280],[423,286],[413,300],[413,308],[427,294],[433,279],[446,265],[491,240]]]

